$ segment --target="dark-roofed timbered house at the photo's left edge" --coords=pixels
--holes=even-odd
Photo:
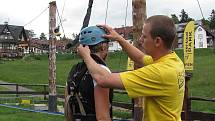
[[[0,57],[20,57],[28,48],[28,34],[23,26],[0,25]]]

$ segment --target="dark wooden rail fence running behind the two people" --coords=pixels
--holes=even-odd
[[[0,86],[15,86],[15,90],[0,90],[0,95],[1,94],[15,94],[17,97],[19,95],[23,94],[29,94],[29,95],[41,95],[44,97],[44,100],[47,100],[47,96],[49,94],[48,92],[48,85],[47,84],[0,84]],[[29,87],[29,86],[34,86],[34,87],[40,87],[42,88],[40,91],[34,91],[34,90],[21,90],[21,87]],[[64,90],[65,86],[56,86],[57,89],[62,89]],[[114,90],[114,93],[119,93],[119,94],[127,94],[125,91],[121,90]],[[64,98],[63,92],[61,94],[57,95],[58,98]],[[191,111],[191,103],[192,101],[204,101],[204,102],[214,102],[215,99],[207,99],[207,98],[200,98],[200,97],[188,97],[185,99],[186,100],[186,111],[184,110],[181,114],[182,120],[185,121],[215,121],[215,114],[212,113],[204,113],[204,112],[196,112],[196,111]],[[132,101],[131,101],[132,102]],[[133,110],[133,105],[132,103],[125,103],[125,102],[113,102],[113,106],[116,107],[121,107],[125,108],[128,110]],[[214,107],[215,108],[215,107]],[[187,118],[186,118],[187,115]]]

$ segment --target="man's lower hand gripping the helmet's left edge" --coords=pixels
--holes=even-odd
[[[78,54],[81,56],[82,59],[85,59],[90,56],[90,49],[88,46],[83,46],[80,44],[77,48]]]

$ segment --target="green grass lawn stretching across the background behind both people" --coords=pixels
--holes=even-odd
[[[183,60],[183,50],[177,50]],[[81,61],[77,55],[57,55],[57,84],[65,85],[67,74],[71,66]],[[126,68],[127,56],[123,52],[111,53],[107,65],[111,71],[123,71]],[[194,59],[193,77],[189,81],[191,96],[215,98],[215,49],[196,49]],[[0,61],[0,80],[13,83],[47,84],[48,58],[47,55],[25,57],[22,60]],[[114,100],[130,99],[127,96],[116,95]],[[193,102],[192,109],[215,113],[215,104]]]

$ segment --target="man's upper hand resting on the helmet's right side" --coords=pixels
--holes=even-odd
[[[112,27],[107,25],[97,25],[97,26],[104,28],[107,31],[108,34],[104,35],[103,36],[104,38],[117,41],[117,42],[124,40],[124,38],[121,35],[119,35]]]

